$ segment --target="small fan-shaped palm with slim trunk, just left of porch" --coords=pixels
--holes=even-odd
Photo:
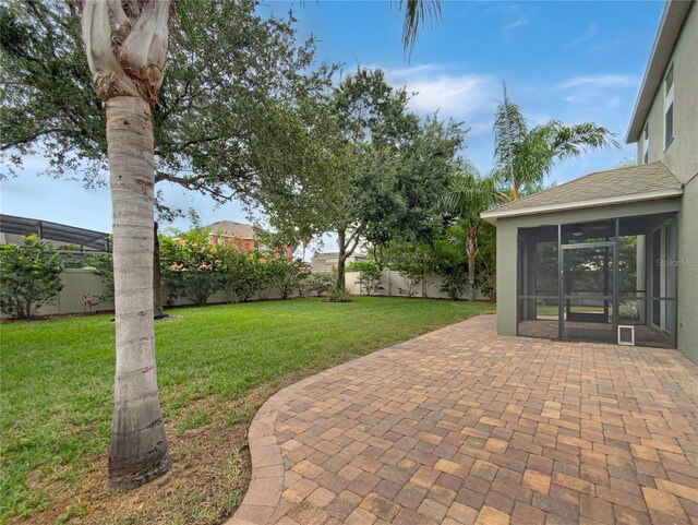
[[[476,258],[479,251],[478,232],[482,224],[480,214],[503,200],[505,196],[497,191],[494,180],[481,177],[478,168],[468,162],[452,179],[448,191],[440,200],[443,213],[466,223],[468,287],[471,301],[476,300]]]

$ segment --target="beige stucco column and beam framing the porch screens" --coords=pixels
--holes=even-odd
[[[518,228],[631,217],[678,210],[678,200],[666,199],[497,219],[497,333],[516,335],[517,331]]]

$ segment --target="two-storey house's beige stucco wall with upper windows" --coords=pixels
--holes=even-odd
[[[685,184],[678,214],[678,349],[698,363],[698,8],[688,11],[672,58],[674,64],[674,140],[664,144],[664,82],[654,94],[647,126],[648,162],[661,160]],[[642,134],[637,162],[643,162]]]

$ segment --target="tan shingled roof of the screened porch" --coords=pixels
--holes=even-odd
[[[497,218],[678,196],[683,186],[662,163],[597,171],[481,214]]]

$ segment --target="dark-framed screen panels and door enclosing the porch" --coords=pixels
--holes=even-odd
[[[676,238],[675,213],[519,228],[518,335],[675,347]]]

